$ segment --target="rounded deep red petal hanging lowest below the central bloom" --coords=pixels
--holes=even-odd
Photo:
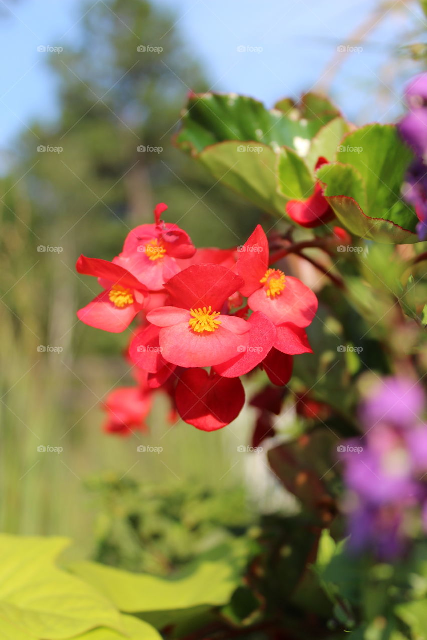
[[[221,378],[204,369],[188,369],[178,381],[175,400],[184,422],[202,431],[216,431],[237,418],[245,392],[239,378]]]

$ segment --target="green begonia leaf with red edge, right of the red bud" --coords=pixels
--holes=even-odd
[[[381,243],[414,243],[417,215],[401,196],[412,157],[396,127],[367,125],[344,137],[337,163],[322,166],[317,177],[353,234]]]

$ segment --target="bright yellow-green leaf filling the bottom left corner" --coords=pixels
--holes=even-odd
[[[61,640],[91,628],[121,630],[119,613],[103,596],[54,562],[69,542],[64,538],[0,536],[0,637],[17,627],[26,634]]]

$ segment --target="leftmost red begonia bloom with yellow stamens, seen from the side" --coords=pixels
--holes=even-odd
[[[103,293],[77,312],[81,322],[110,333],[121,333],[147,304],[148,291],[135,276],[118,264],[86,258],[76,262],[78,273],[99,278]]]

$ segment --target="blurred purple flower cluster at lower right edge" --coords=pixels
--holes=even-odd
[[[343,451],[350,546],[389,559],[422,527],[427,531],[426,397],[419,383],[384,378],[361,410],[365,434]]]

